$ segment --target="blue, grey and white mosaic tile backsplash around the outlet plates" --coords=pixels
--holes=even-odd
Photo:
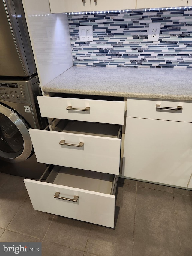
[[[68,14],[73,65],[192,68],[192,8]],[[148,42],[149,23],[161,23]],[[93,25],[93,42],[79,41],[79,25]]]

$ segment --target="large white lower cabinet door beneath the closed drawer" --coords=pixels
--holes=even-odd
[[[191,152],[191,123],[127,118],[122,175],[186,188]]]

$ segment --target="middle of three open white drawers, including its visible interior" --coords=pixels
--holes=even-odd
[[[54,131],[29,129],[37,161],[119,175],[121,125],[61,120]]]

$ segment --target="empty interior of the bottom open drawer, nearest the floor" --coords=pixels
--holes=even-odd
[[[49,170],[47,168],[50,174],[44,182],[104,194],[114,194],[116,175],[56,165],[53,168],[51,166],[51,169],[50,171],[50,168]],[[43,176],[41,178],[43,179]]]

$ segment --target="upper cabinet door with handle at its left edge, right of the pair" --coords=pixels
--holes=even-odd
[[[143,0],[141,0],[142,2]],[[91,11],[135,9],[136,0],[91,0]]]

